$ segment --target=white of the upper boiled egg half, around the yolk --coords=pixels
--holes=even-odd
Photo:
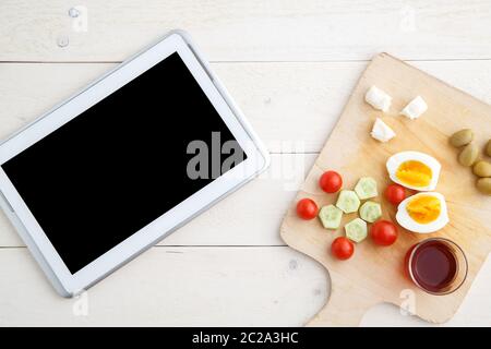
[[[403,164],[405,161],[409,161],[409,160],[420,161],[420,163],[427,165],[431,169],[432,176],[431,176],[430,184],[428,184],[427,186],[415,186],[415,185],[404,183],[397,178],[396,173],[397,173],[397,169],[399,168],[400,164]],[[417,191],[424,191],[424,192],[435,190],[436,184],[439,182],[440,170],[442,169],[442,166],[434,157],[432,157],[428,154],[424,154],[424,153],[420,153],[420,152],[400,152],[400,153],[394,154],[393,156],[391,156],[388,158],[385,166],[387,168],[388,177],[391,178],[392,181],[394,181],[403,186],[414,189]]]

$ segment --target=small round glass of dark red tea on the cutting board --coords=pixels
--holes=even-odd
[[[406,273],[420,289],[431,294],[448,294],[467,277],[467,258],[453,241],[431,238],[412,245],[406,253]]]

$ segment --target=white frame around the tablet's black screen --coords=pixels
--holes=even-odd
[[[270,165],[270,157],[189,36],[173,31],[157,44],[119,64],[71,98],[0,144],[0,165],[107,97],[134,77],[178,52],[248,158],[73,275],[0,167],[0,205],[27,248],[63,297],[73,297],[151,248],[201,212],[244,184]],[[82,237],[80,237],[82,239]],[[74,242],[76,243],[76,242]]]

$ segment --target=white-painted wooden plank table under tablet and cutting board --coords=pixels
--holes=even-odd
[[[0,325],[302,325],[328,274],[278,226],[367,61],[387,51],[491,103],[490,19],[491,2],[462,0],[1,0],[0,137],[183,28],[273,161],[77,300],[55,293],[0,214]],[[488,260],[447,325],[490,326],[490,291]],[[379,305],[362,325],[428,324]]]

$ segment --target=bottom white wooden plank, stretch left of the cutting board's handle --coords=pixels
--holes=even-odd
[[[326,299],[289,248],[153,248],[88,290],[86,316],[26,249],[0,249],[0,326],[294,326]]]

